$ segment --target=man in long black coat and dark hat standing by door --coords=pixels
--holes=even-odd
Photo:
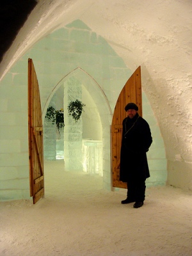
[[[135,202],[139,208],[145,200],[145,180],[150,177],[147,163],[148,148],[152,143],[150,127],[138,115],[138,106],[125,106],[127,117],[123,120],[122,147],[120,154],[120,180],[127,182],[127,198],[122,204]]]

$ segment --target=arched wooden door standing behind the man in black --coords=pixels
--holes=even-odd
[[[118,100],[111,124],[111,167],[112,181],[115,188],[127,188],[127,184],[119,180],[120,177],[120,148],[122,143],[122,122],[126,117],[125,106],[129,102],[134,102],[142,116],[142,95],[141,95],[141,67],[138,67],[134,74],[125,84]],[[128,159],[127,159],[128,160]]]

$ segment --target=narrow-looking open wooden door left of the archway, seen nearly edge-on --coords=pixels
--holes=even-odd
[[[30,196],[35,204],[44,196],[44,144],[40,92],[31,59],[28,59],[28,134]]]

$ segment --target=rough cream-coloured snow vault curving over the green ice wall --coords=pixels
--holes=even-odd
[[[0,77],[40,38],[82,20],[132,72],[141,65],[143,90],[161,128],[168,168],[176,170],[169,163],[182,163],[179,168],[191,179],[191,15],[191,0],[41,0],[4,55]]]

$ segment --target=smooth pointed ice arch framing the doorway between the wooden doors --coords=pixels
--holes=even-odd
[[[90,74],[85,72],[82,68],[77,67],[72,70],[67,76],[63,77],[58,84],[54,87],[47,102],[44,107],[43,116],[45,116],[45,112],[47,107],[49,106],[49,102],[52,99],[54,93],[60,88],[60,86],[67,86],[68,83],[73,82],[73,86],[76,86],[76,83],[82,84],[86,91],[91,95],[95,105],[97,106],[97,111],[99,113],[100,122],[102,126],[102,173],[103,173],[103,186],[104,188],[111,188],[111,168],[110,168],[110,125],[112,118],[112,111],[109,106],[108,99],[103,92],[102,88],[100,88],[99,84],[93,79]],[[64,93],[65,94],[65,93]],[[65,101],[65,100],[64,100]],[[65,103],[64,103],[65,106]],[[67,115],[67,106],[64,108],[64,113]],[[65,134],[65,132],[64,132]],[[71,155],[71,153],[70,153]]]

